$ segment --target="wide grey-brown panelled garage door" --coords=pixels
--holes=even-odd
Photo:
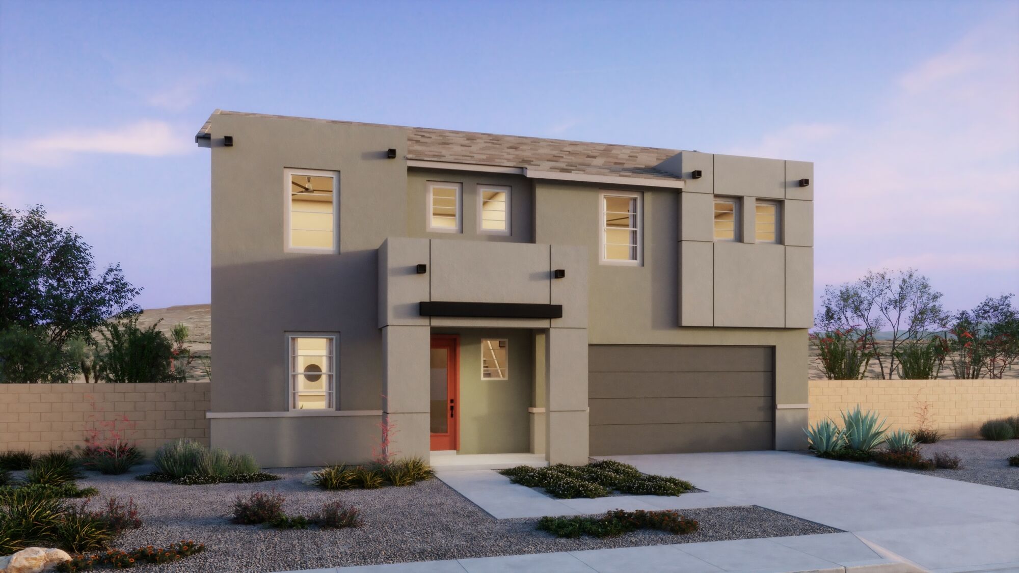
[[[591,345],[591,455],[774,448],[770,347]]]

